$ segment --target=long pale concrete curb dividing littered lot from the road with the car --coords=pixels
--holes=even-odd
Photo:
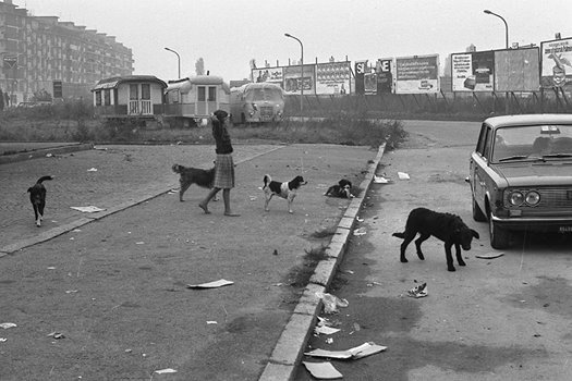
[[[384,144],[379,147],[374,162],[368,164],[367,174],[360,184],[360,188],[363,189],[362,194],[352,200],[340,220],[338,229],[326,249],[327,258],[321,260],[314,270],[314,274],[309,279],[309,283],[294,308],[292,317],[282,331],[258,381],[293,380],[306,342],[315,325],[317,316],[321,311],[321,299],[316,297],[316,293],[326,292],[336,275],[338,266],[345,254],[348,239],[355,225],[357,213],[364,202],[367,190],[369,190],[385,149],[386,145]]]

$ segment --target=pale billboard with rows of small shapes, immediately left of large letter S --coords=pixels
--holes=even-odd
[[[350,69],[350,62],[329,62],[316,64],[316,94],[349,94],[351,79]]]

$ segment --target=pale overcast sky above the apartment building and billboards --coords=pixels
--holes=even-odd
[[[504,48],[572,37],[572,0],[13,0],[36,16],[115,36],[133,51],[134,73],[163,81],[205,70],[224,81],[258,67],[304,62],[369,60]]]

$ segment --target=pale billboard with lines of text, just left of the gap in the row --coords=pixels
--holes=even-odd
[[[395,59],[395,94],[439,93],[439,56]]]

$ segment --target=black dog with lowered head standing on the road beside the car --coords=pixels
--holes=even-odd
[[[459,266],[465,266],[463,257],[461,256],[461,247],[464,250],[471,250],[471,241],[473,237],[478,239],[478,233],[470,229],[459,216],[451,213],[439,213],[425,208],[413,209],[407,217],[405,224],[405,232],[393,233],[393,236],[403,238],[401,244],[401,261],[406,262],[405,249],[407,245],[419,233],[419,237],[415,239],[417,247],[417,256],[419,259],[425,259],[421,250],[421,244],[429,236],[435,236],[445,242],[445,254],[447,256],[447,270],[454,271],[453,257],[451,255],[451,246],[454,245],[457,250],[457,261]]]

